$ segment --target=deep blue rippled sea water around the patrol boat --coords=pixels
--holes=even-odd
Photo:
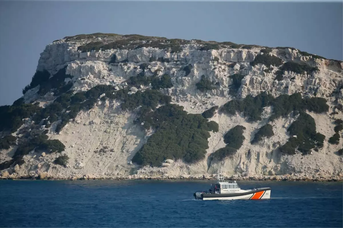
[[[200,201],[208,181],[0,181],[0,227],[343,227],[343,183],[238,182],[270,200]]]

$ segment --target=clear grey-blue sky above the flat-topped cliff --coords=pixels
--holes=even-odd
[[[342,12],[342,2],[0,0],[0,105],[22,96],[45,46],[66,36],[103,32],[290,46],[343,60]]]

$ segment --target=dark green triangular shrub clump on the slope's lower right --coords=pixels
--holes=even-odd
[[[300,112],[296,121],[287,129],[292,135],[288,142],[280,147],[280,151],[286,154],[295,154],[296,150],[307,154],[311,149],[318,150],[323,146],[325,136],[316,132],[315,120],[305,112]],[[296,135],[296,137],[293,137]]]

